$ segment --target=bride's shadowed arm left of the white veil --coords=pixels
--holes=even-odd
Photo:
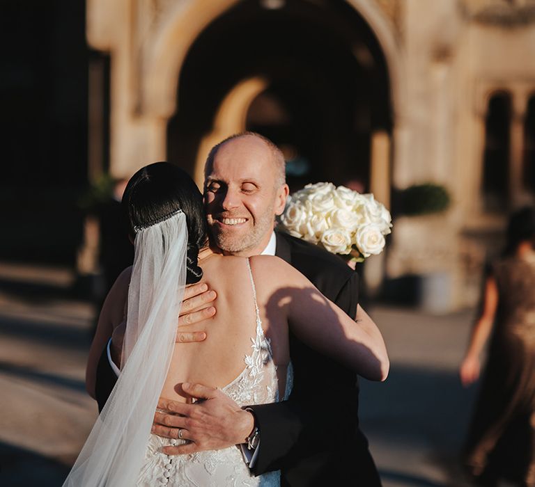
[[[93,337],[93,342],[91,343],[86,367],[86,390],[93,399],[95,399],[95,381],[98,360],[102,354],[104,346],[114,332],[114,328],[123,321],[131,272],[132,268],[129,267],[117,278],[106,296],[106,300],[100,311],[100,316],[98,317],[97,330],[95,332],[95,337]]]

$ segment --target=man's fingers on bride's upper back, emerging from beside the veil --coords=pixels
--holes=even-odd
[[[186,287],[178,317],[177,342],[202,342],[206,338],[206,333],[203,331],[180,331],[180,326],[199,323],[214,316],[215,308],[209,304],[216,297],[215,291],[208,289],[208,285],[204,282]]]

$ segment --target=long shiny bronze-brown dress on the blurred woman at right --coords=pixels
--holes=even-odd
[[[465,449],[476,477],[535,486],[535,255],[493,266],[498,309]],[[492,482],[489,483],[491,485]]]

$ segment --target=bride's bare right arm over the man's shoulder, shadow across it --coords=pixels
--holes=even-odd
[[[293,333],[305,344],[331,356],[371,381],[384,381],[389,359],[384,340],[371,318],[357,308],[357,319],[343,312],[289,264],[282,260],[254,257],[267,278],[277,276],[277,285],[267,303],[270,310],[286,311]],[[264,269],[262,269],[264,268]],[[266,277],[264,277],[265,279]]]

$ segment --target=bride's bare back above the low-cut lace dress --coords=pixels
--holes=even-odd
[[[256,336],[254,292],[245,257],[223,257],[211,252],[201,255],[199,265],[203,279],[217,292],[217,313],[209,320],[183,326],[183,331],[205,331],[206,340],[177,343],[171,360],[162,397],[180,400],[180,383],[201,383],[217,388],[231,383],[245,369],[245,356],[251,354],[251,339]],[[277,366],[280,392],[284,391],[286,367],[290,360],[288,333],[283,312],[266,317],[265,294],[270,283],[262,269],[251,270],[258,296],[258,308],[264,333],[272,342],[272,358]],[[278,260],[277,257],[271,257]],[[256,274],[259,274],[258,276]],[[268,279],[269,280],[269,279]]]

